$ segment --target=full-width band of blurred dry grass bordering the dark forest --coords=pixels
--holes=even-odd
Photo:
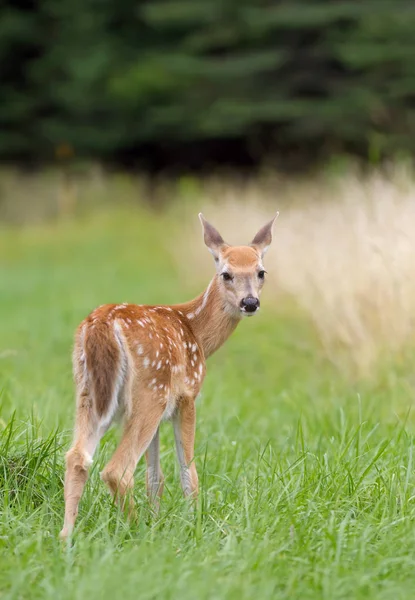
[[[415,179],[409,168],[301,180],[183,178],[152,185],[151,194],[147,184],[99,168],[75,175],[6,171],[0,174],[0,218],[36,223],[145,202],[166,220],[166,243],[179,272],[196,286],[212,268],[201,243],[200,210],[230,243],[248,242],[279,210],[266,260],[267,303],[271,299],[276,311],[286,310],[287,300],[298,307],[327,357],[358,374],[413,341]]]

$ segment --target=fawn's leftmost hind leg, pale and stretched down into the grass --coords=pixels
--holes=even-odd
[[[88,478],[88,468],[105,432],[99,426],[92,399],[87,392],[81,393],[77,404],[75,440],[66,454],[65,519],[60,533],[62,539],[66,539],[73,531],[79,501]]]

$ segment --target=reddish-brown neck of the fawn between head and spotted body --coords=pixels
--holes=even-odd
[[[200,296],[175,308],[189,319],[206,358],[226,342],[240,321],[226,309],[216,275]]]

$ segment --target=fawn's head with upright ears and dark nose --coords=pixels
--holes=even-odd
[[[259,310],[266,271],[264,254],[272,242],[275,217],[262,227],[247,246],[230,246],[202,213],[199,214],[205,244],[215,259],[218,287],[225,308],[235,317],[250,317]]]

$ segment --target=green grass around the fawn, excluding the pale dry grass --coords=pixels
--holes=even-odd
[[[273,312],[270,297],[209,362],[196,513],[181,497],[166,423],[160,515],[150,515],[140,464],[129,527],[99,479],[111,430],[74,544],[61,547],[74,328],[104,302],[169,303],[200,291],[175,272],[168,230],[164,219],[120,212],[1,235],[0,597],[412,597],[411,365],[347,383],[307,324]]]

